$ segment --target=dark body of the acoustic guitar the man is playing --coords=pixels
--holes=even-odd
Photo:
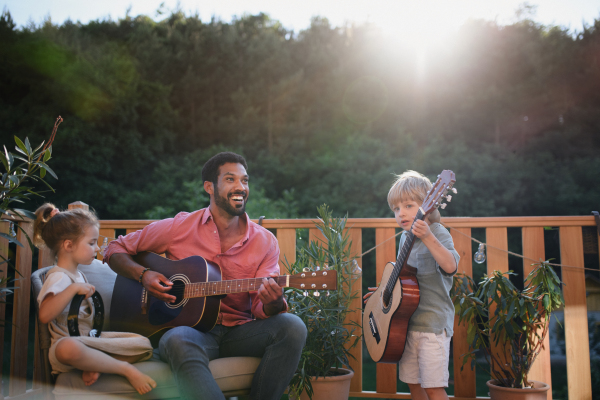
[[[208,332],[215,326],[224,296],[184,298],[183,289],[192,282],[220,281],[218,265],[200,256],[172,261],[154,253],[140,253],[133,259],[173,282],[169,293],[177,299],[175,303],[167,304],[148,294],[147,312],[144,314],[143,286],[133,279],[117,275],[110,307],[111,330],[150,337],[176,326],[190,326],[202,332]]]

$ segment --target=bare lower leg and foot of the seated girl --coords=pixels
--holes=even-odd
[[[106,353],[87,347],[75,339],[61,340],[56,346],[56,358],[63,364],[84,371],[82,379],[86,385],[94,383],[100,373],[107,373],[124,376],[140,394],[148,393],[156,387],[154,379],[140,372],[128,362],[117,360]]]

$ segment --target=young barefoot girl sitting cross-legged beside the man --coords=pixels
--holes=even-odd
[[[35,214],[34,243],[46,245],[57,256],[56,266],[46,275],[38,297],[40,321],[48,324],[52,336],[49,351],[52,373],[80,369],[88,386],[98,380],[100,373],[119,374],[140,394],[151,391],[156,382],[130,364],[152,356],[147,338],[122,332],[102,332],[99,338],[89,336],[93,317],[89,297],[95,288],[77,266],[89,265],[96,257],[98,220],[89,211],[59,212],[52,204],[44,204]],[[78,316],[81,336],[70,337],[67,315],[76,294],[86,299]]]

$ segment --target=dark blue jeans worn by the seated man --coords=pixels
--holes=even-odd
[[[243,325],[217,325],[202,333],[194,328],[173,328],[161,338],[160,357],[169,363],[181,399],[224,399],[208,368],[221,357],[262,357],[250,398],[279,400],[298,366],[306,341],[306,327],[293,314],[277,314]]]

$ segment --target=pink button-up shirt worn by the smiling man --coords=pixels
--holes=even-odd
[[[200,255],[221,267],[221,279],[249,279],[279,274],[279,246],[275,236],[250,221],[247,214],[244,237],[225,253],[221,253],[221,240],[210,210],[204,208],[192,213],[181,212],[175,218],[153,222],[144,229],[119,236],[112,241],[104,256],[113,254],[135,255],[142,251],[165,253],[171,260]],[[284,311],[287,304],[284,301]],[[225,326],[241,325],[254,319],[267,318],[257,292],[228,294],[221,300],[217,323]]]

